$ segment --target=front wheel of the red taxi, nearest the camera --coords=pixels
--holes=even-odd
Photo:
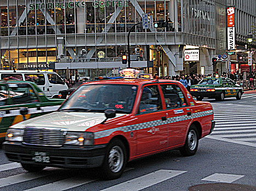
[[[123,142],[119,139],[112,140],[107,147],[107,152],[101,166],[101,174],[105,180],[119,178],[127,163],[127,152]]]

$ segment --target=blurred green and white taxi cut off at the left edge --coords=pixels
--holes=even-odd
[[[49,99],[36,83],[0,80],[0,142],[8,127],[59,108],[64,99]]]

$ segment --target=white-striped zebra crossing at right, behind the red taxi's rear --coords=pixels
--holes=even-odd
[[[256,146],[256,107],[251,105],[212,103],[215,128],[211,136],[246,141]]]

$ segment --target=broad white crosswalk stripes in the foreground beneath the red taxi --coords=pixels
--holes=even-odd
[[[10,166],[7,169],[6,166]],[[0,174],[5,170],[10,170],[12,168],[21,168],[18,163],[8,163],[0,165]],[[127,168],[126,171],[135,170],[134,168]],[[12,175],[9,177],[0,178],[0,190],[11,190],[9,187],[13,186],[14,184],[26,183],[26,185],[30,186],[30,181],[40,180],[40,178],[44,178],[45,180],[50,180],[51,176],[56,176],[55,171],[61,171],[62,174],[66,173],[69,174],[69,170],[67,169],[58,169],[58,168],[45,168],[45,170],[41,172],[23,172],[21,174]],[[94,190],[101,190],[101,191],[116,191],[116,190],[141,190],[155,184],[162,183],[164,181],[168,181],[171,178],[178,177],[184,178],[184,174],[189,173],[189,171],[184,170],[170,170],[170,169],[160,169],[153,172],[149,172],[148,174],[133,178],[128,181],[124,181],[121,183],[113,184],[108,188],[104,188],[104,184],[101,184],[101,187],[95,188]],[[208,176],[201,176],[201,181],[209,181],[209,182],[223,182],[223,183],[232,183],[240,178],[243,178],[246,175],[235,175],[235,174],[223,174],[215,172]],[[44,183],[44,181],[40,181],[42,185],[36,185],[33,188],[29,189],[22,189],[26,191],[41,191],[41,190],[67,190],[67,189],[74,189],[79,186],[86,186],[88,183],[100,182],[98,178],[88,178],[79,175],[71,176],[64,178],[62,180],[53,181],[50,183]],[[104,181],[102,181],[104,182]],[[205,182],[207,183],[207,182]],[[30,186],[31,187],[31,186]]]

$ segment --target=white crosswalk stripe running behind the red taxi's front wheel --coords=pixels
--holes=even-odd
[[[126,172],[128,170],[133,170],[133,169],[134,168],[126,168],[126,169],[124,169],[124,172]],[[42,191],[42,190],[61,191],[61,190],[75,188],[75,187],[81,186],[83,184],[87,184],[87,183],[94,182],[97,180],[98,179],[90,179],[90,178],[76,176],[76,177],[66,178],[61,181],[44,184],[39,187],[27,189],[25,191]]]

